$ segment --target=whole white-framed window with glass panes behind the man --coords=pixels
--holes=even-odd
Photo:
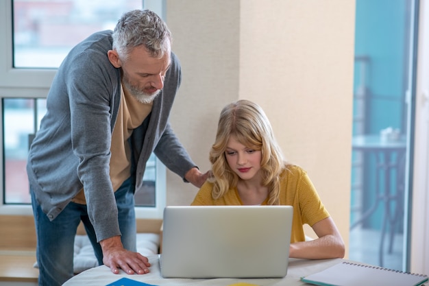
[[[162,15],[162,1],[144,1]],[[149,6],[149,7],[148,7]],[[31,213],[25,166],[29,142],[46,112],[45,97],[63,58],[93,32],[113,29],[142,0],[1,1],[0,104],[2,193],[0,213]],[[156,10],[158,9],[158,10]],[[13,16],[12,16],[13,15]],[[12,23],[13,21],[13,23]],[[165,205],[165,167],[152,155],[145,171],[145,191],[136,193],[138,217],[161,217]],[[7,210],[7,211],[5,211]]]

